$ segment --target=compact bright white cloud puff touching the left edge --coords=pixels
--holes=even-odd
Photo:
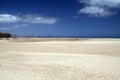
[[[0,23],[14,23],[20,20],[19,17],[11,14],[0,14]]]

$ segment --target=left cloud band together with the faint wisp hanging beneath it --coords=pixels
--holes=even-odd
[[[0,14],[0,24],[6,24],[7,27],[0,27],[0,30],[12,30],[21,27],[28,27],[28,24],[55,24],[59,18],[44,17],[40,15],[13,15]],[[11,23],[9,26],[9,24]],[[13,25],[13,26],[12,26]]]

